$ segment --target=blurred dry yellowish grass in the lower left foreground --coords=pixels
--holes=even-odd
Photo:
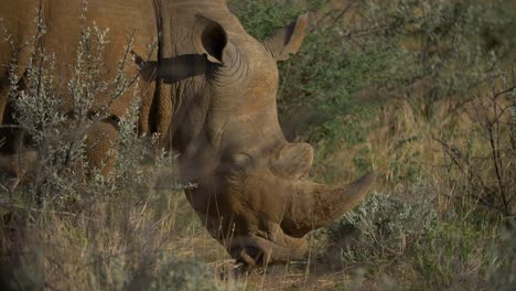
[[[166,280],[178,283],[170,278],[171,269],[198,259],[197,273],[191,274],[198,281],[187,290],[230,287],[230,281],[203,273],[204,265],[216,270],[227,255],[201,228],[184,195],[169,192],[159,203],[154,195],[135,205],[99,201],[79,213],[33,212],[25,226],[18,219],[23,214],[11,213],[1,237],[2,266],[12,272],[4,270],[3,279],[56,290],[163,287]]]

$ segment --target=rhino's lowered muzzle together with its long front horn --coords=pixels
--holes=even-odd
[[[219,176],[192,193],[212,198],[207,204],[194,203],[194,208],[211,235],[246,267],[302,260],[308,252],[307,234],[353,208],[375,181],[369,173],[346,187],[333,187],[255,174],[230,182],[226,177],[222,183]]]

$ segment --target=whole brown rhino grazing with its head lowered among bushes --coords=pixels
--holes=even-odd
[[[47,33],[41,45],[60,57],[61,77],[66,79],[80,9],[79,0],[1,1],[0,18],[14,40],[23,42],[35,33],[33,19],[42,11]],[[179,153],[182,179],[196,185],[185,190],[187,201],[237,262],[302,259],[308,233],[352,209],[374,184],[373,172],[342,187],[308,180],[313,148],[289,142],[282,133],[277,63],[300,48],[307,14],[265,41],[246,33],[224,0],[90,0],[87,19],[110,30],[108,71],[116,71],[126,36],[133,35],[133,69],[146,88],[138,130],[159,133],[163,144]],[[143,57],[153,41],[157,50]],[[20,71],[26,67],[26,52],[0,45],[2,125],[15,122],[6,93],[12,57]],[[117,120],[131,98],[117,99],[108,109],[110,117],[88,132],[88,140],[100,144],[87,153],[94,166],[117,140]],[[12,131],[2,131],[7,142],[0,160],[23,154],[23,147],[13,144],[22,141]]]

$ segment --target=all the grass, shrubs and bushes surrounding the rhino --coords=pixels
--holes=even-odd
[[[2,180],[2,287],[514,290],[514,1],[228,2],[257,39],[312,11],[301,52],[280,64],[283,131],[315,147],[312,176],[345,183],[374,169],[376,192],[314,231],[307,261],[233,278],[173,182],[173,159],[136,136],[138,103],[112,181],[88,172],[85,132],[105,116],[86,112],[99,95],[138,99],[138,88],[128,55],[115,78],[103,74],[109,34],[84,26],[67,86],[74,118],[55,110],[58,57],[34,51],[23,89],[11,68],[18,121],[45,159],[34,182]]]

